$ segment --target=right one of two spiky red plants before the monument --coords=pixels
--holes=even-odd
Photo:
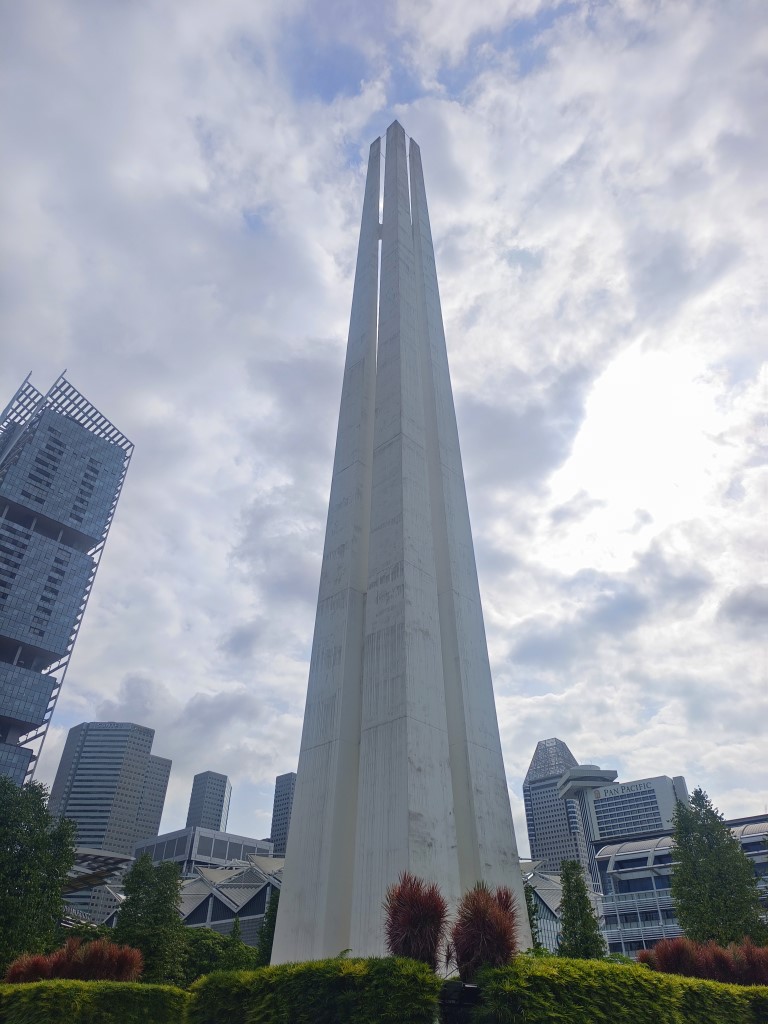
[[[463,982],[481,967],[504,967],[517,952],[517,904],[506,887],[492,892],[478,882],[462,896],[451,931],[454,959]]]

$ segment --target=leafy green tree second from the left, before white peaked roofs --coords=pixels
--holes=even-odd
[[[184,926],[178,912],[181,880],[171,861],[153,867],[142,854],[123,880],[125,900],[115,940],[144,955],[144,981],[180,982],[184,974]]]

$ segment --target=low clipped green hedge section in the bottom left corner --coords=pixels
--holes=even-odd
[[[0,1024],[183,1024],[189,995],[128,981],[0,985]]]

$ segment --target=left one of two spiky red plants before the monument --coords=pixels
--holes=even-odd
[[[384,899],[387,949],[437,970],[445,938],[447,903],[434,883],[403,871]]]

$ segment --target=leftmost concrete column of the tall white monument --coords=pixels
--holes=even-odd
[[[368,580],[381,142],[371,146],[297,786],[272,959],[349,947]]]

